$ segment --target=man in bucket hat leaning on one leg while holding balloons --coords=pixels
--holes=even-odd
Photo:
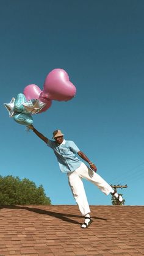
[[[51,141],[43,136],[43,134],[39,133],[33,125],[29,126],[29,128],[33,130],[40,139],[45,141],[52,150],[54,150],[61,172],[67,173],[74,199],[76,200],[82,216],[85,218],[84,224],[81,225],[83,229],[87,228],[92,223],[92,219],[90,218],[90,208],[87,202],[82,178],[85,178],[98,186],[104,194],[112,194],[119,200],[119,202],[123,201],[123,197],[117,194],[117,192],[114,191],[101,176],[96,174],[97,168],[95,164],[93,164],[92,161],[79,150],[73,141],[65,141],[63,133],[60,130],[54,131],[52,137],[54,141]],[[76,153],[84,159],[90,167],[87,167],[79,158],[77,158]]]

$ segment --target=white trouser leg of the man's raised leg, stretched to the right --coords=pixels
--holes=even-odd
[[[113,191],[112,187],[100,175],[93,172],[93,170],[88,168],[84,163],[82,163],[81,168],[76,171],[78,172],[79,177],[91,181],[93,184],[98,186],[104,194],[109,195],[109,193]]]

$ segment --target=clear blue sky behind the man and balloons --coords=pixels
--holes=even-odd
[[[128,185],[126,205],[143,205],[144,1],[1,0],[0,174],[43,185],[52,204],[75,204],[67,175],[45,142],[9,118],[3,103],[28,84],[43,89],[54,68],[67,71],[76,97],[33,115],[46,137],[60,129],[109,184]],[[111,197],[84,181],[90,205]]]

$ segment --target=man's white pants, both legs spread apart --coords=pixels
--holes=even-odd
[[[81,166],[74,170],[74,172],[68,172],[67,175],[68,183],[74,199],[76,200],[79,210],[83,216],[90,213],[90,207],[87,202],[82,178],[91,181],[106,195],[109,195],[109,193],[113,191],[112,187],[103,178],[101,178],[101,176],[93,172],[93,170],[88,168],[84,163],[81,163]]]

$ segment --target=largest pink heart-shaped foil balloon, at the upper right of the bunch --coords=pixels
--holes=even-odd
[[[55,68],[46,76],[43,94],[51,100],[67,101],[76,95],[76,87],[65,70]]]

